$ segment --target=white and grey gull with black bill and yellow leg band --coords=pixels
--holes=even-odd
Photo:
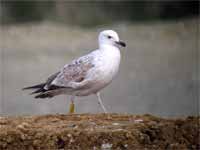
[[[52,98],[57,95],[71,95],[71,112],[74,109],[76,96],[95,94],[104,113],[100,90],[111,83],[120,65],[120,47],[126,44],[119,39],[113,30],[104,30],[98,36],[99,48],[91,53],[74,59],[60,71],[51,75],[45,82],[23,88],[34,90],[35,98]]]

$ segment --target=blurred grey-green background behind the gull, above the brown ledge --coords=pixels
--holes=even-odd
[[[98,48],[104,29],[127,43],[102,91],[109,112],[198,115],[198,1],[1,1],[0,18],[1,115],[67,113],[69,96],[35,100],[21,89]],[[93,95],[75,103],[77,113],[102,112]]]

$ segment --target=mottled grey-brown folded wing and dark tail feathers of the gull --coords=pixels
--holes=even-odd
[[[37,94],[35,98],[51,98],[59,95],[63,88],[73,88],[71,83],[83,83],[88,71],[94,67],[93,56],[86,55],[67,64],[61,71],[51,75],[46,82],[26,87],[26,89],[35,89],[31,94]]]

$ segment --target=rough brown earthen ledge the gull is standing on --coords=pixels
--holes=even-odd
[[[0,117],[0,149],[196,150],[199,121],[127,114]]]

